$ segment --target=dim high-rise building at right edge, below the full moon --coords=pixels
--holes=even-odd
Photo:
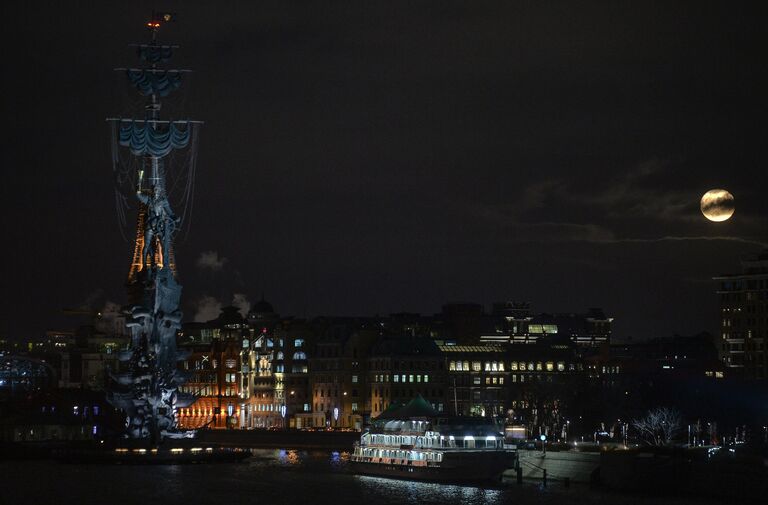
[[[768,378],[768,250],[742,273],[713,277],[720,297],[720,355],[732,373]]]

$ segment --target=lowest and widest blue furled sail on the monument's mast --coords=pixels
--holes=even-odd
[[[173,149],[183,149],[189,144],[191,125],[181,129],[180,122],[167,126],[155,123],[130,121],[120,125],[120,145],[130,148],[136,156],[162,158]]]

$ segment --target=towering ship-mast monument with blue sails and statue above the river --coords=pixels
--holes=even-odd
[[[186,214],[194,186],[197,129],[202,123],[161,119],[161,99],[177,91],[188,72],[160,66],[177,48],[157,41],[161,24],[171,20],[171,14],[153,14],[147,23],[151,41],[134,45],[139,68],[116,69],[146,98],[143,117],[108,119],[121,223],[125,224],[126,209],[138,210],[127,282],[131,341],[118,354],[120,371],[111,374],[108,400],[126,414],[125,435],[152,445],[193,435],[178,429],[176,412],[195,401],[193,394],[180,390],[187,378],[178,362],[187,356],[176,347],[182,313],[174,239],[185,216],[174,213],[166,179],[171,170],[176,171],[174,186],[181,188],[178,200]],[[169,156],[176,150],[186,156]],[[171,158],[177,166],[172,166]]]

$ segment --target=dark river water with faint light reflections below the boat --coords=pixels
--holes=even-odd
[[[450,486],[354,475],[348,453],[256,449],[243,463],[211,465],[73,465],[0,462],[0,504],[254,505],[661,505],[701,500],[642,498],[590,490],[507,483]]]

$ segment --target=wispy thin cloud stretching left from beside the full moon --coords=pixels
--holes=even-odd
[[[542,179],[504,202],[470,203],[467,212],[516,243],[721,241],[765,247],[765,219],[754,215],[739,215],[730,235],[706,235],[711,227],[705,228],[699,212],[701,188],[675,168],[650,158],[616,175]]]

